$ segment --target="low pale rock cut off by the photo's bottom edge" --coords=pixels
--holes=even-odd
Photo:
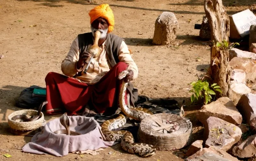
[[[196,154],[188,157],[185,161],[239,161],[223,150],[215,149],[213,147],[203,148],[197,151]]]

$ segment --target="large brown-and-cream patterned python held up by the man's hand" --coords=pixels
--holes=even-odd
[[[126,74],[129,72],[124,70],[118,75],[118,79],[122,80]],[[119,104],[122,112],[135,120],[143,120],[149,115],[152,115],[149,110],[145,108],[133,108],[128,107],[125,104],[125,92],[127,88],[128,82],[123,81],[122,86],[119,93]],[[140,157],[151,157],[156,153],[156,149],[153,145],[146,143],[134,143],[134,138],[132,133],[126,130],[118,130],[112,131],[113,129],[117,129],[122,127],[126,123],[126,118],[124,115],[120,114],[115,119],[110,119],[102,123],[101,131],[106,137],[108,141],[121,141],[121,147],[132,154],[138,154]]]

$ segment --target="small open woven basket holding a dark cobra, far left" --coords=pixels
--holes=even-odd
[[[37,112],[38,111],[33,110],[33,109],[23,109],[23,110],[15,111],[8,116],[8,124],[11,129],[20,130],[20,131],[28,131],[28,130],[37,129],[41,126],[44,126],[46,123],[44,120],[43,112],[40,113],[39,119],[37,119],[35,121],[19,122],[18,120],[16,120],[16,121],[12,120],[12,117],[14,117],[16,115],[32,116],[32,115],[36,115]]]

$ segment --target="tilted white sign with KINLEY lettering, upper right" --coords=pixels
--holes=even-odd
[[[256,24],[256,16],[249,9],[232,15],[232,18],[241,37],[248,35],[250,26]]]

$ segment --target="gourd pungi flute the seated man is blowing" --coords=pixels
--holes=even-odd
[[[89,48],[89,51],[88,51],[89,53],[92,54],[92,56],[91,56],[91,58],[90,58],[90,60],[89,60],[89,62],[88,62],[88,64],[87,64],[86,68],[84,69],[84,74],[86,74],[86,72],[87,72],[87,70],[88,70],[88,67],[89,67],[89,65],[90,65],[90,63],[91,63],[91,61],[92,61],[92,58],[98,57],[99,54],[100,54],[100,52],[101,52],[101,50],[102,50],[102,49],[98,46],[99,39],[100,39],[100,35],[101,35],[100,31],[96,31],[96,32],[95,32],[94,43],[93,43],[93,45]]]

